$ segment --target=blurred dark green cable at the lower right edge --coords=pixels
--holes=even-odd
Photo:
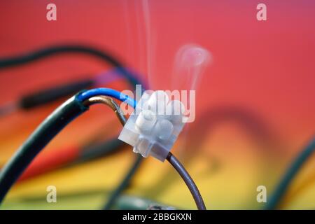
[[[288,190],[290,183],[292,183],[297,173],[300,171],[305,162],[307,162],[307,160],[311,157],[311,155],[313,155],[314,152],[315,139],[313,139],[309,143],[309,145],[306,148],[304,148],[304,150],[300,152],[299,155],[297,155],[297,158],[295,158],[295,160],[292,162],[292,164],[286,171],[286,174],[284,174],[280,183],[276,187],[276,190],[274,190],[274,194],[272,195],[269,202],[267,202],[265,209],[267,210],[276,209],[279,206],[279,203],[281,202],[283,196],[286,194],[286,191]]]

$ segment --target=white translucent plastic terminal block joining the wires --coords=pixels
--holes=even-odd
[[[185,124],[184,110],[179,100],[170,101],[162,90],[144,92],[118,139],[133,146],[134,153],[164,162]]]

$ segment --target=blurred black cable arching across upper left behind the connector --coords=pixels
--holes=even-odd
[[[127,71],[123,64],[120,63],[118,59],[113,57],[111,54],[104,52],[104,50],[99,50],[97,48],[92,48],[86,45],[73,44],[51,45],[46,48],[41,48],[38,50],[34,50],[32,52],[28,52],[24,55],[0,58],[0,69],[6,69],[11,66],[27,64],[38,59],[43,59],[45,57],[64,53],[80,53],[97,57],[99,59],[102,59],[104,62],[111,64],[113,67],[116,67],[118,69],[118,72],[130,82],[133,88],[135,87],[136,84],[141,83],[134,76],[134,74]]]

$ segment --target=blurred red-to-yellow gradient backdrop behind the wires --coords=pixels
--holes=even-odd
[[[197,43],[213,55],[197,88],[197,116],[174,154],[200,188],[208,209],[259,209],[257,186],[274,186],[315,134],[314,1],[1,1],[0,57],[45,45],[85,43],[109,50],[153,90],[174,85],[176,51]],[[55,3],[57,21],[46,20]],[[267,21],[256,20],[265,3]],[[50,57],[0,71],[0,103],[21,94],[109,69],[84,55]],[[172,79],[173,78],[173,79]],[[121,80],[109,85],[128,88]],[[60,102],[0,118],[3,165]],[[104,106],[66,127],[47,151],[119,133]],[[3,209],[100,209],[134,158],[121,153],[17,183]],[[281,209],[315,208],[315,158],[290,186]],[[45,202],[57,187],[57,203]],[[73,193],[77,197],[62,197]],[[94,192],[94,193],[91,193]],[[179,175],[148,158],[126,192],[195,209]],[[59,197],[60,196],[60,197]],[[38,200],[31,200],[38,198]]]

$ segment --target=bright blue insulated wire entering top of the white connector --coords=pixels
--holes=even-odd
[[[80,102],[85,101],[86,99],[89,99],[91,97],[99,96],[99,95],[105,95],[107,97],[114,97],[121,102],[125,102],[128,105],[132,106],[133,108],[136,107],[137,102],[136,100],[132,99],[131,97],[128,97],[126,94],[123,94],[122,92],[119,92],[117,90],[109,89],[109,88],[96,88],[92,90],[85,90],[84,92],[80,92],[76,97]]]

